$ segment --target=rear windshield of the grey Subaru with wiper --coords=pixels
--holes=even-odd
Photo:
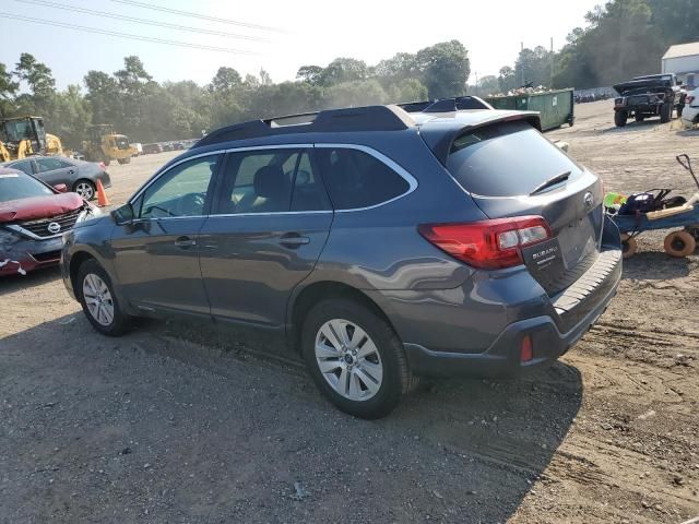
[[[547,180],[581,169],[526,122],[470,130],[451,147],[447,169],[463,189],[482,196],[530,194]]]

